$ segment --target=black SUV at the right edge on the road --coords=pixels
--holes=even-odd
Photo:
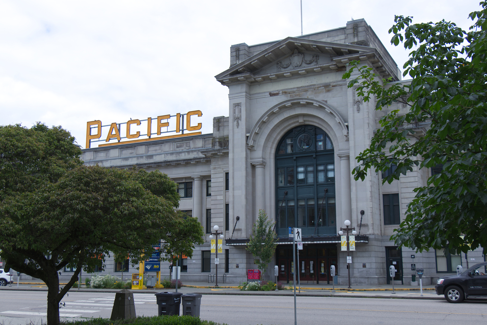
[[[449,303],[461,303],[470,297],[487,297],[487,262],[479,263],[460,275],[441,277],[434,287]]]

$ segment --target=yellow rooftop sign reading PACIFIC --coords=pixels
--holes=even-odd
[[[201,111],[190,111],[186,114],[177,113],[176,115],[159,115],[157,116],[155,123],[152,121],[151,117],[148,117],[146,120],[130,119],[125,123],[112,123],[110,125],[102,125],[100,120],[87,122],[85,148],[91,148],[92,140],[96,140],[94,142],[102,141],[98,140],[102,137],[102,134],[106,134],[107,137],[105,143],[98,145],[98,147],[199,135],[201,132],[184,133],[184,130],[201,130],[201,123],[191,125],[191,116],[195,115],[197,117],[203,116]],[[186,121],[184,120],[185,116]],[[186,122],[186,128],[184,128],[184,122]],[[125,124],[124,128],[122,128],[122,124]],[[155,129],[153,128],[154,126]],[[108,132],[103,132],[103,128],[108,129]],[[171,128],[171,130],[169,130],[169,128]],[[141,134],[142,131],[145,133]],[[153,134],[161,135],[167,133],[171,133],[171,135],[152,137]],[[144,138],[139,139],[141,136]],[[116,139],[117,142],[110,142],[114,139]],[[122,141],[122,139],[124,140]]]

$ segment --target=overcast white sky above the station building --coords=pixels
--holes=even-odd
[[[468,30],[479,0],[302,0],[303,34],[364,18],[390,44],[394,15]],[[232,44],[301,35],[300,0],[0,0],[0,125],[61,125],[85,147],[103,125],[201,110],[202,132],[228,116]]]

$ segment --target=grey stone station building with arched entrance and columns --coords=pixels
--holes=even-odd
[[[289,227],[302,231],[302,283],[331,283],[329,269],[335,265],[339,284],[348,283],[347,268],[352,285],[409,284],[414,268],[424,268],[423,283],[429,285],[442,273],[455,272],[456,265],[483,261],[477,251],[468,257],[415,253],[390,241],[413,189],[425,185],[434,170],[414,170],[384,185],[380,173],[353,179],[354,158],[368,148],[380,117],[407,109],[375,111],[374,98],[364,102],[348,88],[342,75],[353,60],[402,82],[393,58],[363,19],[301,37],[233,45],[229,69],[216,76],[229,91],[228,116],[213,118],[212,134],[129,143],[107,138],[110,146],[84,149],[82,160],[160,170],[178,183],[180,210],[198,218],[206,233],[192,258],[181,256],[183,282],[207,281],[215,273],[209,239],[214,225],[225,236],[219,283],[245,282],[247,270],[257,268],[258,257],[245,243],[261,209],[276,222],[278,234],[275,259],[264,274],[270,280],[274,265],[281,282],[293,280]],[[420,132],[428,126],[416,127]],[[341,250],[338,231],[345,220],[357,232],[355,251]],[[117,271],[111,263],[105,272]],[[398,270],[394,279],[390,265]],[[163,263],[162,274],[169,276],[169,264]]]

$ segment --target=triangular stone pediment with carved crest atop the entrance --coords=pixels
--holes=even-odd
[[[261,82],[344,68],[352,60],[370,60],[383,77],[393,75],[369,46],[285,38],[215,76],[222,84]]]

